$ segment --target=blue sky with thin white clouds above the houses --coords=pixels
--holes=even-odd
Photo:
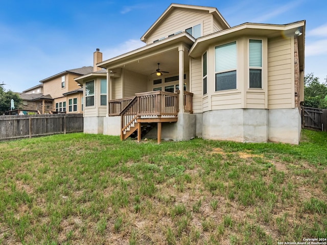
[[[134,50],[172,2],[115,0],[0,0],[0,83],[21,92],[67,69]],[[216,7],[231,27],[244,22],[306,20],[305,74],[327,76],[325,0],[201,0],[173,3]]]

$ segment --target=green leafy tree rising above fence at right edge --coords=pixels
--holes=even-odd
[[[326,80],[326,79],[325,79]],[[327,81],[319,82],[318,77],[314,77],[313,73],[305,76],[305,106],[314,108],[327,108]]]

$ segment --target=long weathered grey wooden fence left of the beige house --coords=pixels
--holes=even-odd
[[[0,116],[0,140],[83,132],[83,114]]]

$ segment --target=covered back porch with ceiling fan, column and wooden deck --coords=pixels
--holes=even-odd
[[[185,139],[177,135],[183,134],[181,117],[193,113],[188,51],[194,41],[180,33],[98,64],[107,70],[104,134],[113,135],[119,124],[121,139],[137,131],[139,141],[142,124],[153,123],[160,142],[161,124],[178,121],[169,138]]]

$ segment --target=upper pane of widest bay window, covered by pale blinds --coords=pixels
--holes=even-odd
[[[236,42],[227,43],[215,48],[216,72],[236,69]]]

